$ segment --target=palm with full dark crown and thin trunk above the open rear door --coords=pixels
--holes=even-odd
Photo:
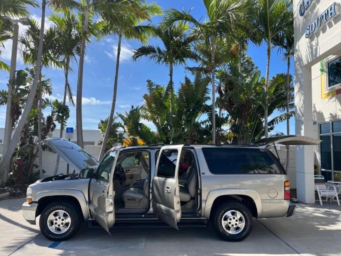
[[[170,122],[173,122],[173,101],[174,101],[174,84],[173,84],[173,66],[183,65],[186,59],[195,59],[195,54],[191,50],[191,42],[194,37],[188,37],[186,31],[188,26],[186,23],[172,23],[167,25],[160,24],[152,27],[154,37],[161,39],[164,48],[160,46],[145,45],[134,51],[133,59],[137,60],[143,56],[154,60],[157,64],[162,63],[169,67],[169,83],[171,89],[170,98]]]

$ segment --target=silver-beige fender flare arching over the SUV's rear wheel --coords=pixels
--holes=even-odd
[[[220,196],[238,196],[238,195],[251,197],[252,200],[255,202],[258,218],[262,216],[262,212],[263,212],[262,201],[257,191],[252,190],[252,189],[219,188],[219,189],[211,190],[208,193],[206,203],[205,203],[204,217],[207,219],[210,218],[213,202],[214,200],[216,200],[216,198]]]

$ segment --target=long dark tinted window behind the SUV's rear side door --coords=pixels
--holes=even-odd
[[[285,174],[276,157],[265,149],[208,147],[202,151],[213,174]]]

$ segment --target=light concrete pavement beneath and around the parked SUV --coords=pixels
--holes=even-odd
[[[84,223],[76,236],[52,242],[26,223],[24,199],[0,201],[0,255],[341,255],[341,207],[299,205],[290,218],[259,219],[237,243],[211,227],[112,228]]]

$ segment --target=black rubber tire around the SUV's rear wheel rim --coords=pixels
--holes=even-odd
[[[236,232],[238,233],[229,233],[231,232],[231,227],[226,226],[226,229],[229,229],[229,232],[227,232],[223,227],[222,219],[224,218],[225,213],[227,213],[228,211],[238,211],[242,215],[242,218],[239,218],[239,220],[241,219],[244,222],[244,226],[243,228],[237,228],[238,230]],[[233,219],[233,221],[237,222],[236,219],[237,218]],[[225,221],[228,221],[228,219],[226,219]],[[224,203],[221,204],[213,213],[213,226],[222,239],[230,242],[242,241],[249,236],[252,230],[252,214],[250,210],[242,203]]]

